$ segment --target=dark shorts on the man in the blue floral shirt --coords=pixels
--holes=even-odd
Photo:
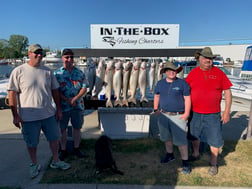
[[[62,112],[62,119],[60,120],[60,128],[66,129],[68,127],[69,120],[71,120],[72,127],[75,129],[81,129],[84,122],[83,110],[70,110]]]

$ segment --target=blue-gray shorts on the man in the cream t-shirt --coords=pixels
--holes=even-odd
[[[37,147],[41,130],[48,141],[60,139],[60,129],[55,116],[38,121],[23,122],[22,134],[27,146],[31,148]]]

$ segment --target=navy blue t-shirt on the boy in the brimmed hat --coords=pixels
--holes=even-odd
[[[185,111],[184,96],[190,96],[190,87],[185,80],[176,78],[167,82],[166,78],[158,81],[155,94],[160,95],[159,106],[166,112]]]

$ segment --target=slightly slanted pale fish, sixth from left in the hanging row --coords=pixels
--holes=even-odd
[[[130,82],[129,82],[129,91],[130,91],[130,98],[128,102],[132,102],[136,104],[136,90],[138,85],[138,75],[139,75],[139,67],[140,67],[140,60],[137,60],[133,63],[133,67],[130,73]]]

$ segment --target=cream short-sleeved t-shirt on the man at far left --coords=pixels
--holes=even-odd
[[[18,111],[23,121],[36,121],[55,114],[52,105],[52,90],[59,84],[46,66],[32,67],[22,64],[10,76],[8,90],[16,91]]]

